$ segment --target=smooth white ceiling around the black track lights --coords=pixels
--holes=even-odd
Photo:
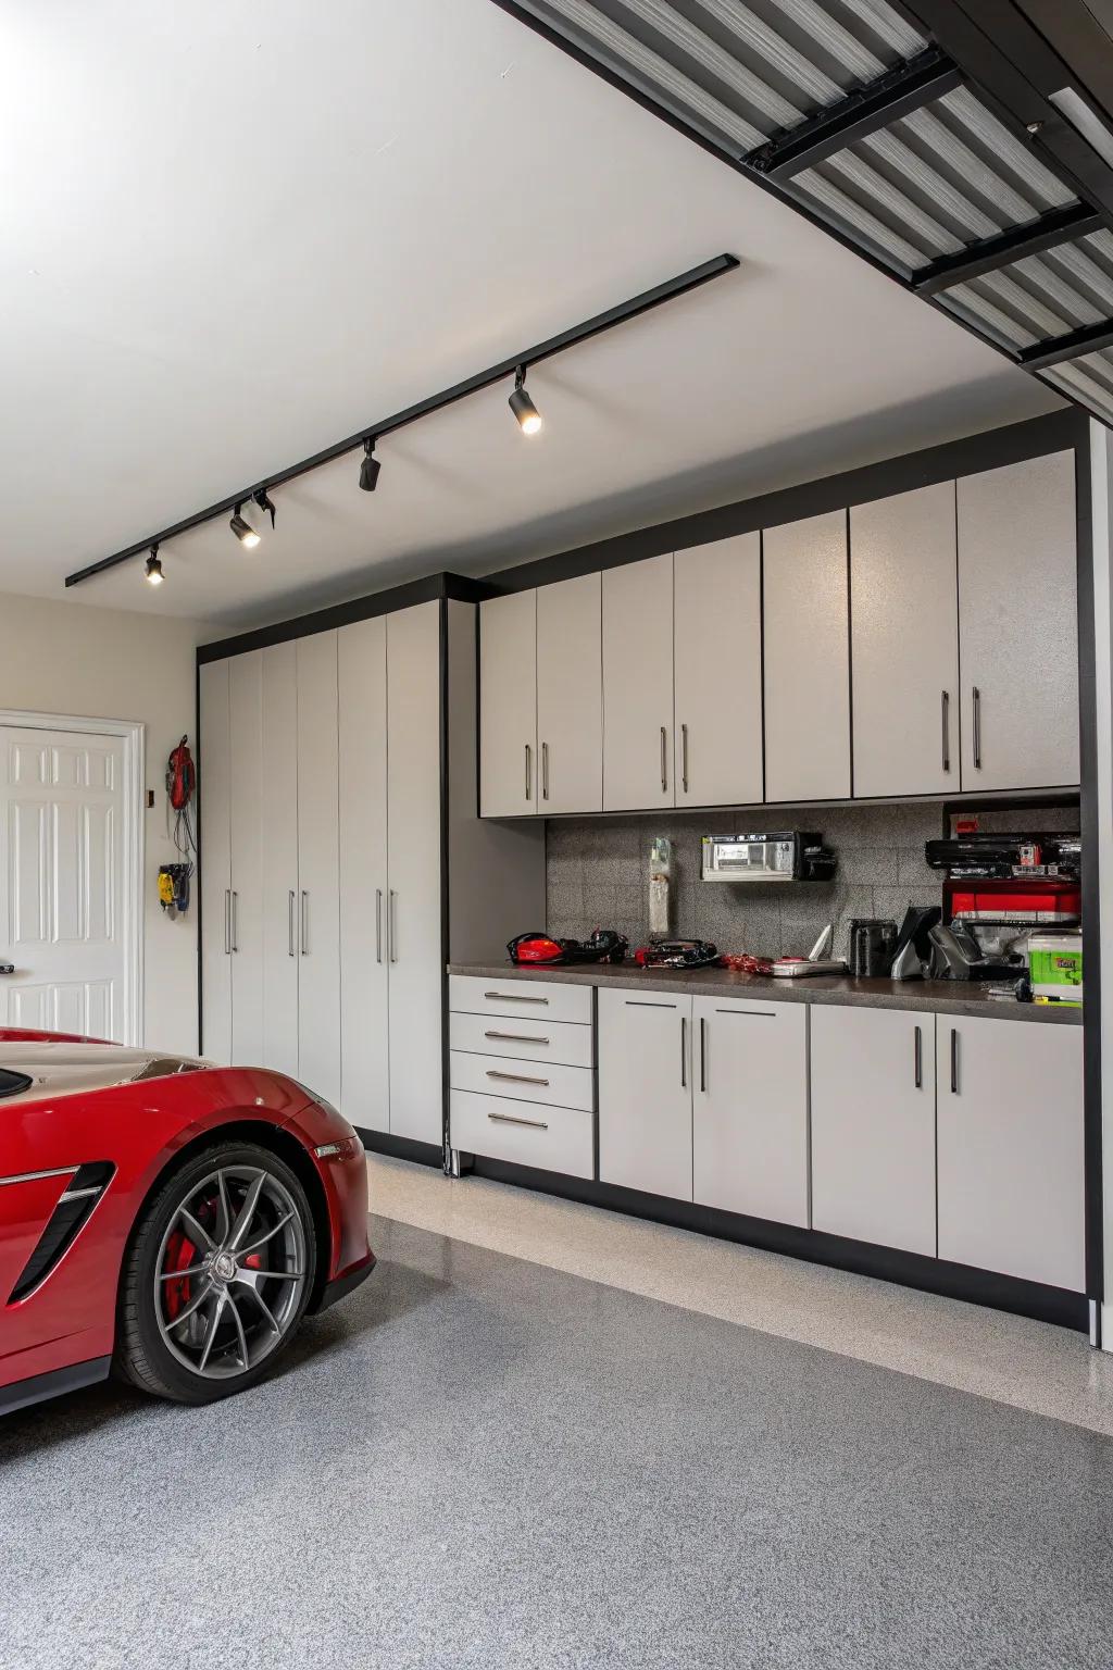
[[[0,591],[729,250],[738,272],[67,593],[224,625],[1048,411],[491,0],[0,0]]]

